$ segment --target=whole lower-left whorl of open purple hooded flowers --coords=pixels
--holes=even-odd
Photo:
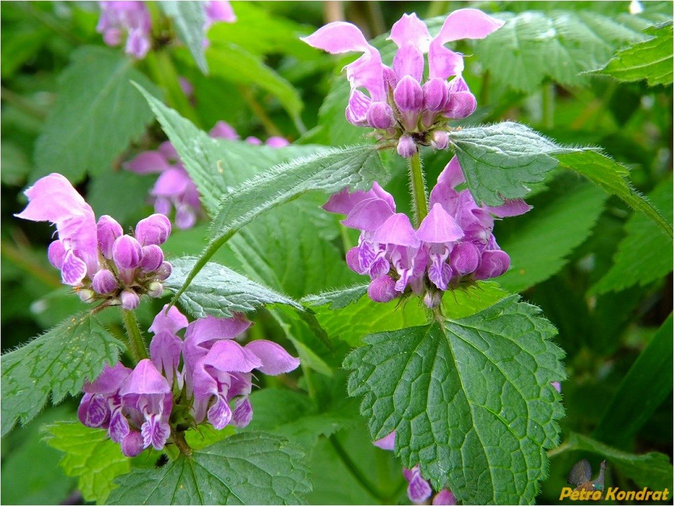
[[[188,323],[176,307],[167,308],[150,327],[154,337],[149,359],[133,370],[121,363],[106,365],[83,387],[80,421],[107,429],[128,457],[150,446],[160,450],[173,432],[206,420],[218,430],[228,424],[246,426],[253,418],[248,398],[253,369],[279,375],[299,366],[297,358],[274,342],[236,342],[251,325],[243,315]],[[178,335],[182,329],[184,340]]]

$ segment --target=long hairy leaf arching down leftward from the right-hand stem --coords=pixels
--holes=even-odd
[[[333,148],[294,158],[247,179],[231,193],[222,196],[218,216],[210,230],[211,242],[177,296],[220,246],[259,214],[308,191],[334,193],[344,187],[353,191],[369,187],[372,181],[387,180],[388,172],[374,146]]]

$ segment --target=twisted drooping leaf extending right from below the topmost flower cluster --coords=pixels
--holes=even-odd
[[[671,226],[627,181],[627,169],[597,148],[564,148],[532,129],[505,121],[450,132],[470,193],[477,202],[500,205],[524,197],[526,185],[545,179],[557,166],[574,170],[610,195],[657,222],[669,236]],[[555,158],[557,160],[555,160]]]

